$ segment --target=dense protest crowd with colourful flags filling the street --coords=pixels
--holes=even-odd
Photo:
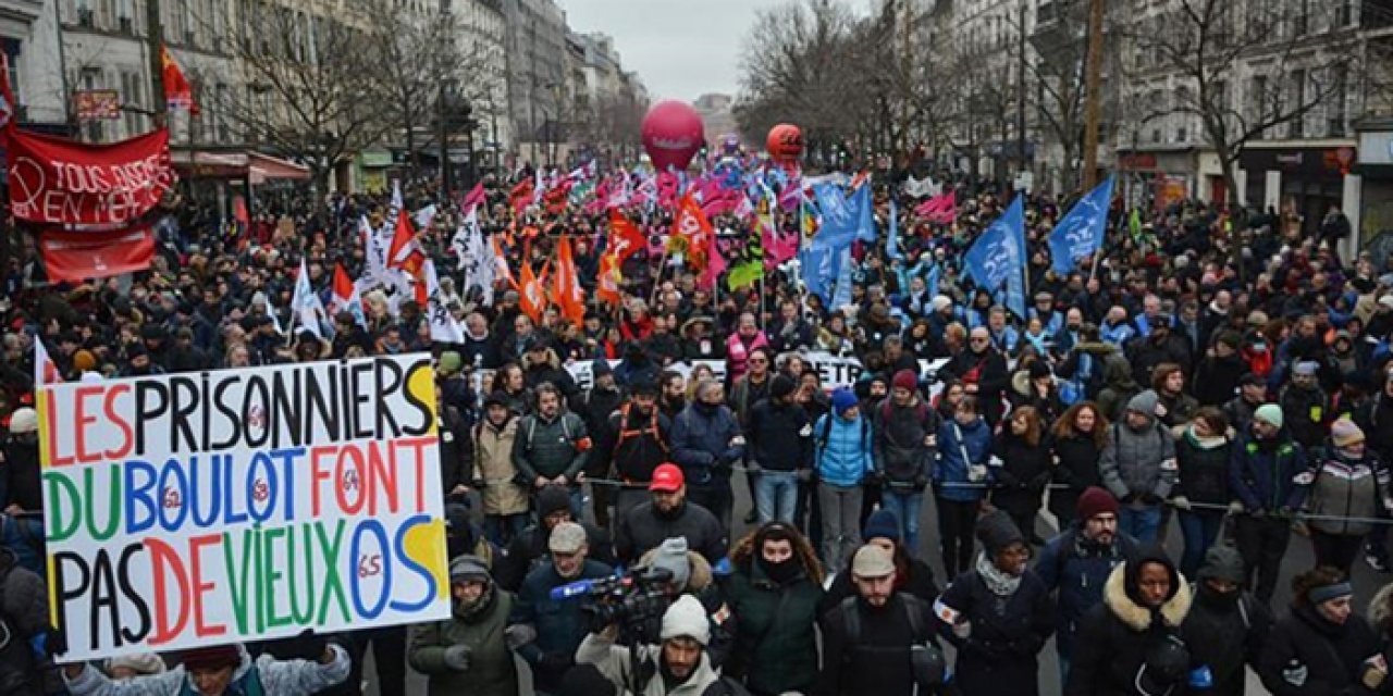
[[[210,210],[4,269],[0,693],[1393,693],[1393,271],[1337,209],[733,153]],[[447,615],[64,660],[36,391],[419,352]]]

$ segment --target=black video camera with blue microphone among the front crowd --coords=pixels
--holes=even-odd
[[[591,632],[598,633],[610,624],[618,624],[628,635],[644,635],[645,625],[655,618],[662,619],[671,604],[667,596],[670,582],[671,571],[645,567],[627,575],[563,585],[552,590],[552,599],[582,597],[585,604],[581,611],[589,619]]]

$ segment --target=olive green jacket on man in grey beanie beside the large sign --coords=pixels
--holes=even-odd
[[[407,635],[407,658],[411,667],[429,677],[429,696],[517,696],[517,665],[503,640],[503,629],[508,625],[511,611],[513,594],[495,587],[493,606],[478,617],[450,617],[447,621],[411,626]],[[469,646],[468,671],[457,672],[446,667],[444,649],[453,644]]]

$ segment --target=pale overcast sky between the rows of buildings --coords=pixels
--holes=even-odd
[[[557,0],[571,29],[614,38],[653,100],[740,88],[740,46],[761,8],[787,0]],[[865,11],[872,0],[853,0]]]

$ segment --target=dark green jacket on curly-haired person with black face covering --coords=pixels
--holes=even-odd
[[[726,580],[726,604],[740,617],[726,674],[759,693],[811,693],[818,678],[814,624],[822,587],[805,575],[780,586],[751,558]]]

